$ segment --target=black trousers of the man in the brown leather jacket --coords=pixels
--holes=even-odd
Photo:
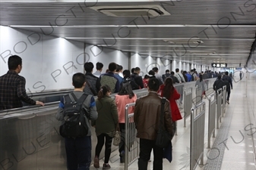
[[[140,158],[137,165],[139,170],[147,170],[147,162],[153,149],[153,170],[163,170],[163,148],[156,147],[156,141],[140,139]]]

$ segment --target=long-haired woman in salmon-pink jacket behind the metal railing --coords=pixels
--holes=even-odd
[[[125,106],[126,104],[134,103],[136,100],[137,96],[132,91],[130,82],[124,81],[119,93],[115,95],[115,104],[119,113],[119,129],[121,131],[121,142],[119,144],[120,162],[125,162]],[[128,113],[133,112],[134,107],[130,107]]]

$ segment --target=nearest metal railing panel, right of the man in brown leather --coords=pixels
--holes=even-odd
[[[195,115],[196,110],[200,112]],[[205,102],[191,108],[190,169],[195,169],[198,160],[204,164]]]

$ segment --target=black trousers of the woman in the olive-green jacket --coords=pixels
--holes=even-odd
[[[105,142],[105,138],[106,138],[106,142]],[[95,156],[100,157],[100,152],[103,149],[103,145],[105,143],[104,163],[109,163],[109,157],[111,154],[112,137],[110,137],[108,134],[100,134],[99,136],[97,136],[97,139],[98,139],[98,143],[95,149]]]

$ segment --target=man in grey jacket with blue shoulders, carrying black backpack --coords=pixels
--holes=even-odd
[[[72,78],[72,85],[74,85],[74,93],[75,97],[79,99],[82,94],[84,94],[85,87],[85,76],[83,73],[75,73]],[[56,115],[56,119],[62,121],[62,125],[65,123],[63,110],[65,107],[65,97],[62,98],[59,106],[58,112]],[[90,120],[96,120],[98,117],[98,113],[96,111],[96,103],[93,95],[88,94],[87,98],[84,100],[83,107],[87,110],[89,114],[88,118]],[[87,127],[89,128],[88,134],[86,137],[77,137],[77,138],[65,138],[65,148],[67,154],[67,168],[68,169],[90,169],[91,162],[91,131],[90,131],[90,123],[87,117],[84,117],[87,122]]]

